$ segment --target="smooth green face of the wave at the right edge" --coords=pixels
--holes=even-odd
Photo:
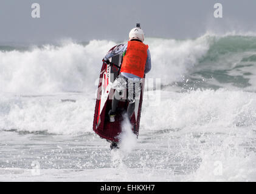
[[[210,37],[209,50],[178,85],[185,89],[255,90],[256,37]]]

